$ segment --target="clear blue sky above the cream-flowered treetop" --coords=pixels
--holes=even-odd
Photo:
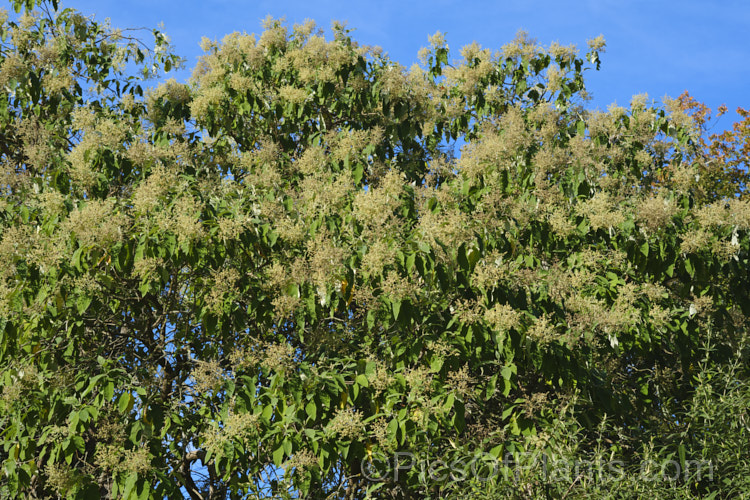
[[[417,60],[435,31],[447,33],[455,56],[474,40],[499,49],[519,29],[539,42],[574,43],[603,34],[602,69],[589,72],[592,107],[625,105],[634,94],[660,100],[689,90],[712,108],[750,107],[750,2],[747,0],[63,0],[117,27],[164,24],[178,54],[192,68],[202,36],[221,39],[233,31],[259,33],[267,15],[290,23],[348,21],[354,38],[379,45],[405,66]],[[185,79],[188,72],[177,75]],[[731,125],[731,113],[717,129]]]

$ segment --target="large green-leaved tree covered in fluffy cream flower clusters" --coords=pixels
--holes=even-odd
[[[750,206],[679,106],[585,108],[601,38],[407,71],[267,20],[144,92],[164,35],[15,6],[4,496],[744,491]]]

